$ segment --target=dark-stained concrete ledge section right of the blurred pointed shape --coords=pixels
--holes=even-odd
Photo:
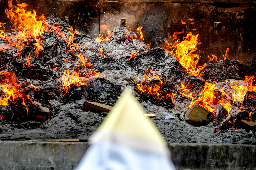
[[[256,145],[168,144],[177,170],[256,169]]]

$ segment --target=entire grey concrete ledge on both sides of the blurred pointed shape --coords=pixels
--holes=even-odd
[[[0,141],[0,170],[72,170],[88,142]],[[256,169],[256,145],[168,144],[177,170]]]

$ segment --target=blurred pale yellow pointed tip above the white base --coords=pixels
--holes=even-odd
[[[126,88],[106,119],[92,135],[91,142],[111,141],[135,147],[141,146],[144,149],[152,145],[154,148],[157,145],[165,146],[166,142],[161,133],[144,114],[145,111],[132,94],[132,89]]]

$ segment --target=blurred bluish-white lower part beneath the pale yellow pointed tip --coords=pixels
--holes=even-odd
[[[133,149],[121,144],[92,144],[75,170],[175,170],[163,155]]]

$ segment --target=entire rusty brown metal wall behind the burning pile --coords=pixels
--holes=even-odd
[[[249,0],[134,0],[126,1],[84,1],[84,0],[21,0],[35,9],[38,15],[55,14],[61,19],[68,18],[69,24],[79,32],[92,37],[103,33],[99,26],[105,24],[109,30],[120,26],[121,18],[127,19],[132,31],[141,30],[144,42],[151,43],[151,48],[161,47],[162,43],[174,32],[199,34],[199,64],[207,62],[208,55],[222,56],[229,48],[230,59],[242,60],[247,70],[256,70],[255,58],[255,22],[254,1]],[[0,0],[1,13],[7,8],[7,0]],[[13,1],[13,3],[16,3]],[[111,19],[112,18],[112,19]],[[114,18],[114,20],[113,20]],[[189,21],[188,18],[194,18]],[[109,20],[111,19],[111,20]],[[186,24],[181,24],[181,19]],[[0,16],[10,31],[11,23],[6,15]],[[194,24],[190,24],[194,22]],[[222,24],[221,29],[214,28],[214,22]],[[129,29],[129,28],[128,28]],[[196,29],[196,30],[193,30]]]

